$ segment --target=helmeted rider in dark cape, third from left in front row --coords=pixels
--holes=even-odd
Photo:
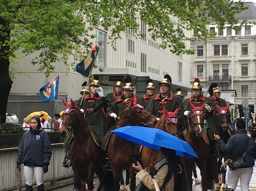
[[[179,134],[182,134],[182,129],[184,127],[184,117],[183,117],[183,102],[179,96],[173,95],[171,91],[172,78],[168,74],[164,76],[164,79],[159,83],[160,94],[150,97],[146,104],[146,110],[149,113],[153,113],[156,117],[160,118],[163,115],[163,109],[169,112],[174,112],[179,108],[179,112],[176,117],[179,120]]]

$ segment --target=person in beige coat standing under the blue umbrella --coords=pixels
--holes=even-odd
[[[148,170],[137,164],[133,163],[132,166],[138,170],[136,178],[138,178],[150,191],[173,191],[174,190],[174,170],[176,170],[175,150],[161,147],[157,154],[157,163],[155,165],[156,171],[150,174]],[[159,189],[157,189],[159,187]],[[135,188],[136,190],[136,188]]]

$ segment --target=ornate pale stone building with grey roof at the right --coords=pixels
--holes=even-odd
[[[244,3],[249,8],[235,18],[242,21],[256,21],[256,4]],[[236,90],[235,104],[243,117],[242,99],[249,98],[250,112],[256,107],[256,27],[248,24],[241,30],[233,30],[226,25],[218,30],[216,25],[208,25],[216,32],[216,38],[206,42],[194,40],[191,46],[196,50],[190,67],[190,81],[198,77],[201,85],[208,89],[217,83],[221,89]]]

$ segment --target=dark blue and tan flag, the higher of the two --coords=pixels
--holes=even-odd
[[[94,46],[88,53],[87,57],[76,66],[76,71],[85,77],[90,77],[93,64],[96,60],[99,51],[99,46]]]

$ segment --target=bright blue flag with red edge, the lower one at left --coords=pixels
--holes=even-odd
[[[57,77],[48,81],[39,91],[42,102],[49,102],[58,99],[59,74]]]

